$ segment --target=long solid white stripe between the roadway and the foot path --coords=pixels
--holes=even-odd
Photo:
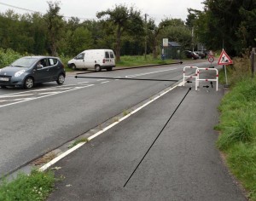
[[[108,125],[106,128],[100,130],[100,131],[97,132],[96,134],[91,135],[90,137],[88,137],[87,140],[88,140],[88,141],[91,141],[92,139],[96,138],[96,136],[101,135],[102,133],[104,133],[104,132],[107,131],[108,129],[111,129],[111,128],[112,128],[113,126],[115,126],[116,124],[118,124],[118,123],[124,121],[125,118],[129,118],[132,114],[134,114],[134,113],[140,111],[141,109],[143,109],[143,107],[148,106],[148,105],[149,105],[150,103],[152,103],[154,100],[157,100],[157,99],[159,99],[161,96],[166,95],[166,93],[168,93],[168,92],[171,91],[172,89],[175,89],[176,87],[177,87],[177,85],[174,86],[174,87],[172,87],[171,89],[166,90],[166,92],[164,92],[164,93],[162,93],[162,94],[156,96],[153,100],[149,100],[149,101],[146,102],[143,106],[138,107],[136,110],[132,111],[131,113],[129,113],[129,114],[127,114],[127,115],[125,115],[125,117],[120,118],[118,122],[114,122],[114,123]],[[73,146],[71,149],[67,150],[67,152],[63,152],[60,156],[58,156],[58,157],[54,158],[53,160],[49,161],[48,164],[44,164],[44,166],[42,166],[39,170],[40,170],[40,171],[44,171],[44,170],[48,169],[51,165],[57,163],[59,160],[61,160],[62,158],[66,157],[66,156],[67,156],[68,154],[70,154],[71,152],[76,151],[77,149],[79,149],[79,147],[83,146],[85,143],[86,143],[86,142],[80,142],[78,145]]]

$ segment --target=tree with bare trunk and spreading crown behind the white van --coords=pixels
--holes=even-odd
[[[133,7],[128,9],[125,5],[116,5],[114,9],[107,9],[96,14],[99,19],[107,15],[106,23],[115,30],[117,61],[120,60],[122,34],[124,32],[132,32],[137,35],[138,32],[143,32],[143,19],[140,14],[140,11],[135,10]]]

